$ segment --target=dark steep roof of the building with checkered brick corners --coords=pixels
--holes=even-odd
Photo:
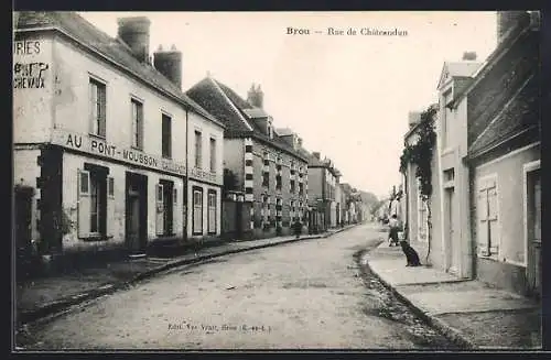
[[[260,129],[260,124],[253,120],[260,114],[262,118],[269,117],[269,114],[262,109],[255,108],[231,88],[213,77],[207,76],[195,84],[186,91],[186,95],[226,124],[225,137],[255,137],[257,140],[307,161],[302,152],[294,150],[278,133],[273,133],[273,139],[266,135]]]

